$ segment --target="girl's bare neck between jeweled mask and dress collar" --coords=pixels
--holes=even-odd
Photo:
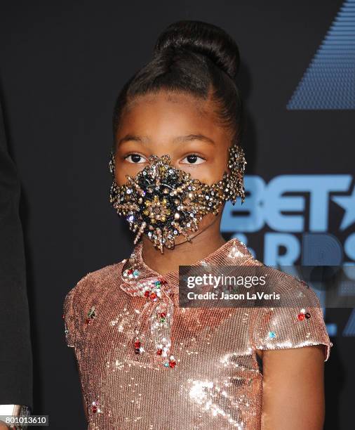
[[[182,242],[174,249],[164,248],[163,254],[146,236],[143,236],[142,259],[147,266],[161,275],[178,271],[179,266],[189,266],[225,244],[226,241],[220,234],[219,223],[215,224],[217,224],[216,227],[206,228],[202,233],[193,237],[191,242]]]

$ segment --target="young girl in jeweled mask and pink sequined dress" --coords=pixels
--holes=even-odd
[[[245,197],[238,69],[223,30],[175,22],[119,95],[110,202],[135,247],[64,304],[88,429],[323,428],[332,344],[304,282],[278,272],[276,287],[312,308],[179,306],[179,266],[262,265],[220,234],[225,202]]]

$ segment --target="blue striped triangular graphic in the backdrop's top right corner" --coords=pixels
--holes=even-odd
[[[355,109],[355,0],[344,1],[286,107]]]

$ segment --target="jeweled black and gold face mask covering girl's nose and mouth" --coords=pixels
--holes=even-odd
[[[217,215],[223,202],[235,204],[236,197],[245,200],[243,176],[246,165],[239,146],[229,148],[228,167],[220,181],[208,185],[171,165],[169,155],[149,157],[149,165],[127,182],[117,185],[114,154],[111,151],[109,170],[113,176],[109,201],[119,216],[125,216],[130,230],[138,232],[134,243],[144,233],[163,253],[173,248],[175,237],[195,232],[208,213]]]

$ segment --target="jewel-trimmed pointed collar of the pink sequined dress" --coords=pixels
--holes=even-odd
[[[225,242],[208,256],[191,263],[190,266],[234,266],[241,265],[246,260],[253,258],[246,245],[240,240],[233,238]],[[128,259],[123,260],[121,270],[121,288],[128,294],[135,295],[135,287],[145,280],[162,280],[168,285],[168,291],[178,292],[179,271],[171,271],[161,275],[147,266],[142,259],[142,241],[135,245]],[[166,288],[167,289],[167,288]]]

